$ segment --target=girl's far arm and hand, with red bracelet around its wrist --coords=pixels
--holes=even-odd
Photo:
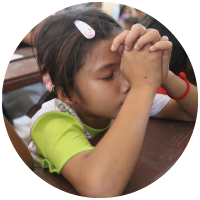
[[[187,83],[169,71],[169,61],[171,57],[172,43],[164,41],[164,37],[153,45],[153,51],[164,50],[162,58],[162,84],[167,93],[178,98],[183,96],[187,90]],[[175,119],[195,122],[198,114],[198,87],[190,83],[190,91],[181,100],[171,99],[168,104],[153,117]]]

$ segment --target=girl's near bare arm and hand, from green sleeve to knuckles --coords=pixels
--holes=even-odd
[[[132,40],[138,37],[133,32]],[[127,32],[122,33],[114,44],[120,45],[126,35]],[[155,37],[160,40],[157,33],[155,36],[153,32],[153,35],[149,34],[152,41]],[[131,89],[121,110],[94,150],[72,157],[61,171],[82,196],[120,196],[130,179],[143,143],[153,100],[162,80],[162,52],[151,53],[149,48],[150,44],[140,51],[123,51],[120,69]]]

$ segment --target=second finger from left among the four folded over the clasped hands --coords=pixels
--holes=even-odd
[[[146,28],[140,24],[134,24],[130,30],[130,33],[125,39],[125,50],[129,51],[132,49],[133,44],[146,34]]]

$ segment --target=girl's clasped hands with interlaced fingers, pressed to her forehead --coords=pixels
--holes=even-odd
[[[166,82],[172,43],[167,36],[161,38],[157,30],[146,30],[144,26],[135,24],[130,31],[115,37],[111,50],[122,55],[120,69],[129,82],[138,79],[141,74],[141,77],[156,80],[157,85],[160,81],[160,86]],[[130,72],[133,72],[132,75],[129,75]]]

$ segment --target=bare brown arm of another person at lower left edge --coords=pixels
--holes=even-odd
[[[34,163],[33,159],[28,151],[28,148],[24,144],[24,142],[21,140],[21,138],[17,135],[15,130],[12,128],[8,120],[4,117],[4,125],[8,133],[8,137],[10,139],[10,142],[12,146],[14,147],[16,153],[21,158],[21,160],[24,162],[24,164],[32,171],[34,172]]]

